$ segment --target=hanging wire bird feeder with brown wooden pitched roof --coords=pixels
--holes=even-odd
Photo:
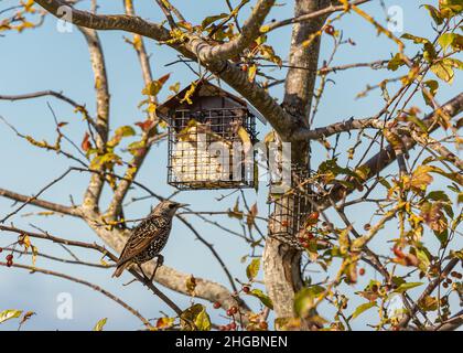
[[[180,190],[255,188],[256,114],[206,81],[158,108],[169,124],[168,183]]]

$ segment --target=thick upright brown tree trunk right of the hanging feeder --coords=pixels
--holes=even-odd
[[[316,11],[329,4],[325,0],[298,0],[295,1],[294,15],[301,15]],[[303,47],[303,41],[310,34],[319,31],[325,18],[294,24],[292,29],[291,50],[286,81],[286,94],[283,108],[294,117],[293,128],[309,127],[309,115],[316,79],[316,69],[320,51],[320,36],[311,45]],[[304,67],[304,68],[300,68]],[[309,142],[293,143],[291,148],[291,162],[293,168],[309,170],[310,145]],[[281,206],[274,210],[274,222],[280,222]],[[291,210],[289,211],[291,213]],[[290,236],[288,234],[288,236]],[[301,278],[301,253],[282,244],[277,238],[267,238],[263,250],[265,285],[269,297],[273,302],[277,318],[293,318],[294,293],[302,288]],[[301,329],[308,329],[303,324]],[[276,328],[278,329],[278,328]]]

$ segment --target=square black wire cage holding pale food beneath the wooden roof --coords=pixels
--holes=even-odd
[[[180,190],[255,188],[255,153],[245,158],[239,128],[251,143],[256,118],[245,108],[191,111],[169,118],[168,183]]]

